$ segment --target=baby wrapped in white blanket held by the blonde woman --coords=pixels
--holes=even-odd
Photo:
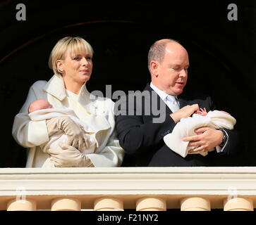
[[[81,153],[89,154],[95,153],[95,150],[98,147],[97,140],[95,138],[95,132],[88,127],[85,122],[80,120],[75,112],[71,109],[63,109],[63,108],[53,108],[52,105],[45,99],[39,99],[33,101],[28,108],[28,116],[32,121],[40,121],[40,120],[47,120],[51,119],[52,117],[59,117],[59,116],[68,116],[84,131],[83,139],[85,140],[85,148],[78,149]],[[49,148],[59,148],[59,143],[66,143],[68,136],[60,130],[60,132],[52,135],[50,140],[47,143],[43,143],[40,145],[44,153],[49,153]],[[55,167],[54,163],[49,158],[42,167]]]

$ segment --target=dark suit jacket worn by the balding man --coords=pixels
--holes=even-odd
[[[147,94],[143,94],[146,93]],[[152,94],[157,96],[152,101]],[[145,97],[142,97],[145,96]],[[137,99],[134,103],[128,99]],[[157,104],[155,103],[157,100]],[[181,94],[178,96],[181,108],[185,105],[197,103],[200,108],[206,108],[207,111],[214,110],[214,104],[209,96],[200,94],[190,94],[186,96]],[[150,113],[148,103],[150,101]],[[172,112],[164,103],[165,110],[161,113],[165,114],[165,120],[161,123],[153,122],[154,118],[159,117],[152,112],[154,107],[164,103],[161,98],[153,91],[150,84],[147,84],[144,91],[139,94],[128,95],[116,102],[116,110],[121,115],[116,115],[116,131],[121,147],[128,155],[133,155],[135,162],[129,166],[138,167],[190,167],[190,166],[212,166],[212,158],[214,154],[232,155],[236,153],[236,142],[238,135],[235,130],[226,130],[228,133],[228,143],[223,153],[217,151],[210,152],[207,156],[200,154],[189,154],[185,158],[170,150],[163,141],[163,137],[169,134],[175,122],[169,116]],[[142,107],[140,106],[142,105]],[[153,106],[152,106],[153,105]],[[147,107],[146,107],[147,106]],[[136,115],[137,113],[137,115]]]

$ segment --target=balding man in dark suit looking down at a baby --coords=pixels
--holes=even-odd
[[[188,136],[194,147],[190,153],[209,151],[207,156],[189,154],[185,158],[169,149],[163,137],[169,134],[181,118],[189,117],[200,108],[214,110],[209,96],[185,94],[188,79],[188,52],[173,39],[156,41],[148,54],[152,82],[144,91],[123,96],[116,102],[116,131],[121,147],[133,155],[133,166],[187,167],[211,166],[215,154],[236,153],[238,135],[235,130],[200,127],[195,136]]]

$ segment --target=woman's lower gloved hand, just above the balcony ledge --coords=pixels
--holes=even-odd
[[[55,167],[94,167],[87,155],[73,146],[59,145],[62,149],[49,148]]]

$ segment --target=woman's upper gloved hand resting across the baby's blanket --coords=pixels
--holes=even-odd
[[[49,136],[62,130],[68,136],[67,146],[73,146],[78,149],[83,149],[85,146],[82,129],[68,116],[53,117],[47,120],[47,129]]]

